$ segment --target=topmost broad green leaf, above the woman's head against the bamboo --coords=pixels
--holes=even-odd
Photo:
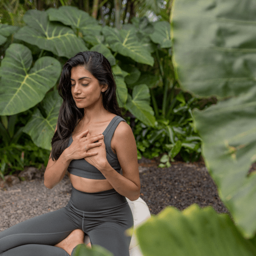
[[[93,35],[96,31],[101,31],[102,29],[98,20],[75,6],[61,6],[58,9],[49,9],[49,20],[60,21],[67,26],[71,26],[75,32],[78,29],[83,35],[88,33]]]

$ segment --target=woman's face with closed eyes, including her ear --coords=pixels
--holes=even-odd
[[[88,70],[84,67],[71,69],[71,93],[78,108],[90,108],[97,104],[102,105],[102,91],[106,85],[100,85]]]

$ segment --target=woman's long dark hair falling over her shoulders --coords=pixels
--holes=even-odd
[[[52,137],[52,160],[57,160],[67,148],[68,140],[78,122],[84,117],[84,109],[77,108],[71,94],[71,69],[84,67],[98,79],[99,84],[108,84],[108,89],[102,93],[103,107],[117,116],[122,116],[116,99],[116,83],[113,77],[111,64],[99,52],[79,52],[70,58],[63,66],[58,92],[63,99],[58,116],[57,130]]]

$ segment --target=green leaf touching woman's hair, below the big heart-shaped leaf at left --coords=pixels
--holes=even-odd
[[[23,128],[23,132],[29,134],[33,143],[38,147],[51,150],[52,136],[58,120],[62,98],[58,91],[47,93],[42,105],[46,113],[44,117],[39,109],[36,109],[30,121]]]

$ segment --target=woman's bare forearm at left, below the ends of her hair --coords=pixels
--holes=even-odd
[[[52,189],[63,179],[71,161],[66,153],[66,151],[63,151],[58,160],[54,161],[51,166],[47,166],[44,172],[44,185],[48,189]]]

